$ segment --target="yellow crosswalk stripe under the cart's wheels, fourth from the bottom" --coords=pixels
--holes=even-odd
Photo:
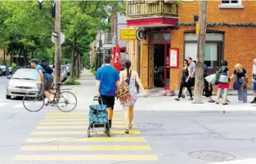
[[[31,135],[85,135],[87,131],[34,131]],[[102,131],[98,131],[97,134],[105,134]],[[112,135],[124,135],[124,131],[110,131]],[[131,135],[140,135],[141,131],[129,131]]]

